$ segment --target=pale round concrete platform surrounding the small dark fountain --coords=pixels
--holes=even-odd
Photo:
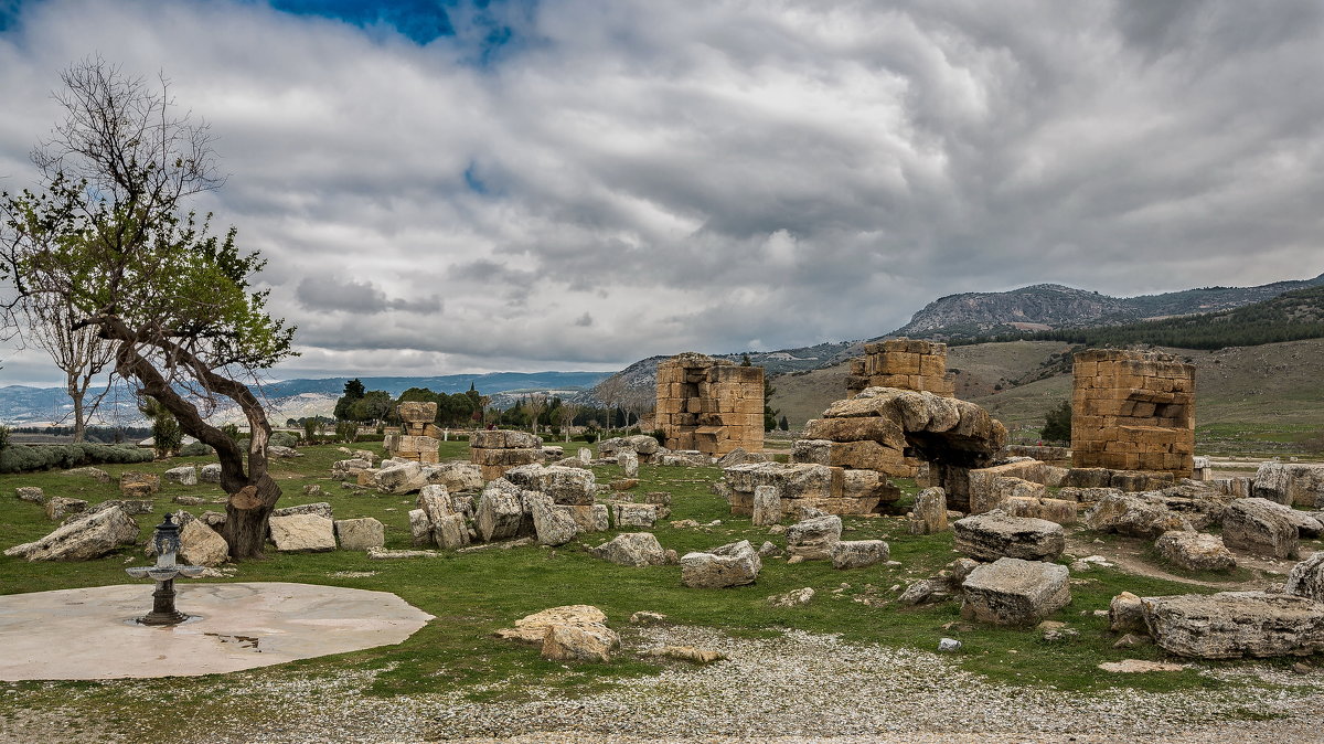
[[[433,616],[389,592],[176,584],[188,622],[144,626],[152,585],[0,596],[0,680],[196,676],[399,643]]]

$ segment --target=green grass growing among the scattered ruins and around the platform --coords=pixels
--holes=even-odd
[[[380,451],[380,445],[364,449]],[[332,446],[301,451],[305,457],[274,466],[285,490],[281,506],[327,500],[338,518],[380,519],[387,526],[388,547],[408,547],[408,510],[413,506],[413,496],[342,490],[338,482],[330,479],[328,473],[331,462],[343,458],[343,454]],[[462,457],[466,451],[466,443],[449,442],[444,445],[442,457]],[[179,462],[111,466],[106,470],[113,474],[128,469],[163,471]],[[597,467],[596,471],[598,482],[606,482],[618,474],[618,469],[612,466]],[[661,543],[682,555],[740,539],[749,539],[756,547],[764,540],[784,545],[781,535],[771,535],[767,528],[753,527],[748,518],[730,514],[727,504],[711,492],[711,483],[719,477],[720,471],[716,469],[641,467],[637,492],[669,491],[673,495],[671,520],[694,519],[700,524],[722,520],[720,526],[699,530],[674,528],[669,523],[661,523],[655,528]],[[12,496],[16,486],[25,485],[41,486],[48,495],[77,496],[90,502],[118,496],[114,485],[102,486],[90,479],[73,479],[57,473],[3,477],[0,544],[4,547],[37,539],[53,528],[40,507]],[[306,485],[319,485],[324,492],[305,495],[302,490]],[[916,490],[914,482],[902,482],[902,486],[908,495]],[[163,485],[155,515],[138,518],[143,526],[140,540],[147,539],[155,516],[167,508],[177,508],[169,500],[176,494],[220,496],[218,487],[212,485]],[[222,507],[187,508],[201,512]],[[494,630],[510,626],[519,617],[568,604],[601,608],[609,624],[625,634],[626,643],[632,633],[626,622],[629,616],[638,610],[651,610],[669,616],[675,624],[711,626],[733,637],[760,638],[780,634],[785,629],[800,629],[838,633],[859,643],[915,649],[935,649],[939,638],[953,637],[964,642],[963,651],[953,657],[961,666],[992,680],[1017,686],[1090,694],[1113,686],[1165,691],[1222,684],[1196,671],[1106,678],[1096,669],[1096,665],[1106,661],[1162,657],[1153,646],[1112,649],[1115,638],[1108,633],[1107,618],[1094,614],[1095,610],[1106,609],[1111,597],[1123,590],[1147,596],[1211,589],[1110,569],[1091,571],[1072,582],[1071,604],[1054,616],[1054,620],[1066,621],[1079,630],[1079,635],[1047,643],[1034,630],[965,624],[956,601],[919,608],[900,608],[888,602],[896,596],[890,590],[891,586],[904,586],[910,581],[933,576],[959,557],[952,549],[951,534],[911,536],[906,534],[904,520],[899,516],[847,518],[843,522],[847,528],[843,539],[887,539],[892,559],[899,565],[842,572],[834,571],[826,561],[789,565],[785,560],[769,559],[764,561],[763,573],[755,585],[698,590],[681,585],[677,567],[617,567],[591,557],[575,543],[559,548],[524,547],[434,560],[387,561],[373,561],[364,553],[347,551],[314,555],[283,555],[273,551],[267,560],[241,564],[232,580],[301,581],[387,590],[434,614],[437,620],[397,646],[306,659],[233,675],[134,680],[132,694],[128,694],[128,683],[123,682],[0,684],[0,688],[15,691],[0,695],[0,715],[13,712],[17,707],[60,708],[101,720],[117,720],[119,716],[132,720],[134,725],[144,725],[148,731],[166,731],[172,725],[176,712],[160,711],[156,703],[167,695],[185,706],[195,721],[205,721],[208,715],[220,715],[222,710],[228,716],[238,715],[233,707],[217,702],[217,698],[224,698],[226,684],[331,680],[347,671],[372,671],[375,674],[365,690],[368,695],[391,698],[459,690],[470,699],[486,700],[522,698],[531,684],[555,687],[560,694],[573,696],[613,684],[622,678],[657,674],[662,669],[659,663],[637,661],[629,655],[609,665],[567,669],[542,659],[534,647],[499,641],[493,635]],[[598,544],[612,535],[584,535],[580,539],[587,544]],[[123,568],[128,559],[140,563],[140,547],[85,563],[29,564],[0,557],[0,593],[124,584],[128,580]],[[347,571],[376,573],[360,579],[332,576]],[[842,588],[843,582],[849,588]],[[772,608],[767,601],[772,594],[802,586],[813,586],[817,592],[809,605]],[[144,598],[146,596],[144,586]],[[869,598],[880,606],[855,598]],[[65,695],[71,690],[83,692],[77,696],[77,702],[70,702]],[[261,718],[278,707],[278,700],[260,699],[245,708],[242,715]]]

